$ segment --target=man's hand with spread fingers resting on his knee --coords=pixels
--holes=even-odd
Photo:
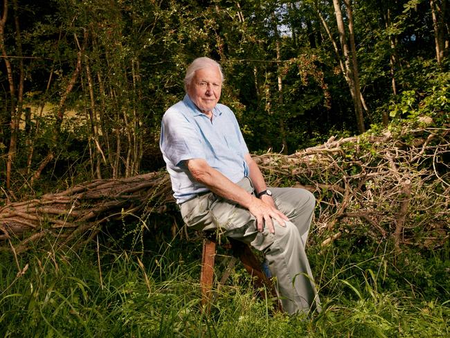
[[[276,220],[281,226],[286,226],[285,221],[289,221],[289,218],[276,208],[272,197],[268,197],[271,199],[271,202],[269,199],[263,201],[262,199],[253,196],[249,206],[249,211],[256,217],[258,231],[262,232],[265,224],[265,226],[269,227],[269,231],[271,233],[275,233],[272,219]]]

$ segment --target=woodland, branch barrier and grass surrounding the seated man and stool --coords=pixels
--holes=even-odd
[[[3,336],[449,335],[448,0],[0,11]],[[269,182],[316,195],[311,319],[271,313],[240,267],[201,311],[159,128],[203,55]]]

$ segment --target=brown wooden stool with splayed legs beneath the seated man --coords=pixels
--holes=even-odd
[[[260,287],[265,286],[266,290],[268,291],[267,296],[276,298],[277,294],[273,282],[262,271],[261,263],[258,258],[255,257],[253,251],[251,251],[249,245],[237,240],[233,240],[233,238],[228,238],[228,241],[230,242],[230,244],[228,244],[228,247],[226,247],[226,245],[222,245],[222,247],[231,249],[233,252],[233,256],[241,260],[244,268],[252,277],[253,286],[255,287],[255,289],[258,290]],[[206,306],[207,311],[209,311],[210,301],[213,295],[212,289],[214,282],[216,245],[217,242],[215,239],[210,237],[204,238],[203,253],[201,256],[200,287],[201,304]],[[234,265],[234,261],[231,262],[231,265]],[[226,278],[228,278],[229,268],[231,268],[230,265],[228,265],[228,269],[222,276],[222,279],[220,281],[221,284],[225,283]],[[259,294],[262,299],[266,298],[266,294],[264,292],[259,292]],[[280,301],[278,301],[276,308],[278,308],[278,310],[282,310]]]

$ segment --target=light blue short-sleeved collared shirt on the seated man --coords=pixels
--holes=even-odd
[[[235,115],[226,105],[215,106],[211,121],[186,94],[165,112],[159,147],[178,204],[209,190],[192,177],[184,162],[188,159],[205,159],[234,183],[249,175],[244,160],[249,149]]]

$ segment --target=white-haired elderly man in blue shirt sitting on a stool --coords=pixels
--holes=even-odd
[[[320,310],[305,254],[314,195],[267,188],[235,115],[218,103],[223,81],[217,62],[197,58],[184,79],[186,96],[163,116],[160,148],[183,220],[262,251],[289,314]]]

